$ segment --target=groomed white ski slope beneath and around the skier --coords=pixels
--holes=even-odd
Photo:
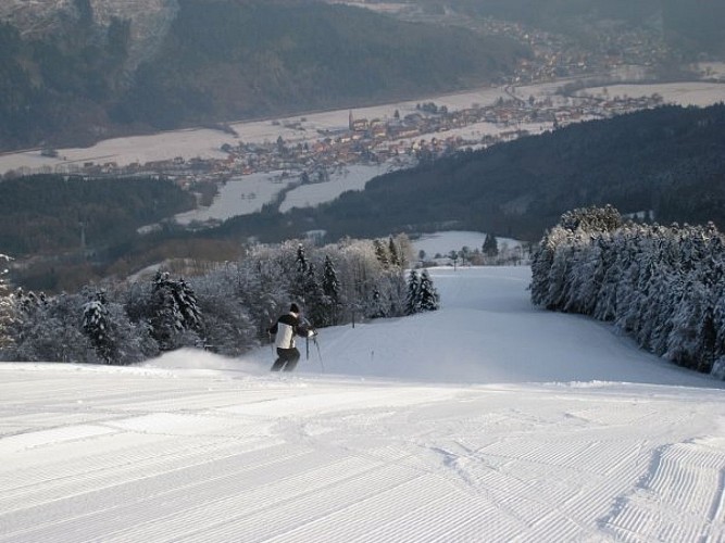
[[[435,268],[438,312],[299,371],[183,351],[0,365],[0,542],[725,541],[723,383]]]

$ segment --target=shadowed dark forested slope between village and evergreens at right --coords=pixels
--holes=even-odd
[[[605,203],[725,227],[725,105],[664,106],[459,153],[296,211],[288,228],[340,237],[454,225],[537,240],[564,211]]]

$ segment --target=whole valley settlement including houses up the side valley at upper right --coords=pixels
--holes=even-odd
[[[4,175],[164,176],[205,194],[200,203],[207,205],[218,187],[240,176],[274,173],[274,180],[286,181],[288,187],[325,182],[332,172],[350,166],[410,167],[461,150],[485,149],[571,123],[610,118],[665,102],[658,92],[610,96],[607,87],[577,92],[595,80],[621,80],[614,75],[617,71],[633,66],[641,71],[658,64],[666,51],[655,36],[609,31],[599,50],[584,51],[561,37],[520,24],[487,21],[484,26],[486,33],[514,37],[534,51],[532,59],[522,60],[515,74],[491,84],[495,99],[465,105],[432,99],[413,106],[408,102],[405,108],[391,104],[389,111],[377,108],[374,114],[350,110],[347,124],[340,122],[340,115],[336,123],[323,126],[305,116],[268,119],[264,138],[247,134],[243,123],[217,124],[211,127],[216,136],[209,138],[214,152],[197,156],[178,153],[125,162],[113,155],[74,160],[62,156],[62,151],[45,149],[40,154],[49,159],[46,164],[17,167]],[[539,85],[548,85],[550,90],[534,90]],[[254,193],[248,197],[254,198]]]

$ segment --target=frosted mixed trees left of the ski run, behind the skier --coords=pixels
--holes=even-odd
[[[267,340],[291,301],[314,327],[435,311],[427,272],[405,278],[411,252],[405,236],[287,241],[191,278],[159,268],[54,296],[12,291],[0,275],[0,359],[127,365],[180,348],[238,356]]]

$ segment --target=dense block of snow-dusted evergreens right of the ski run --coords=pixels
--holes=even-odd
[[[725,378],[725,237],[714,225],[575,210],[541,239],[532,275],[535,304],[613,321],[659,356]]]

